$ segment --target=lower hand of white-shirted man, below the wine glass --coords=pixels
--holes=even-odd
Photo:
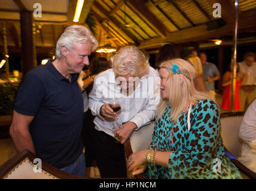
[[[133,130],[137,128],[137,125],[133,122],[127,122],[122,125],[123,128],[116,130],[114,136],[120,141],[121,144],[124,144],[130,135],[132,135]]]

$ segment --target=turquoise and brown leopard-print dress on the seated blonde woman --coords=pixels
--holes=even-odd
[[[170,106],[156,119],[149,149],[172,152],[168,168],[148,163],[147,178],[242,178],[225,155],[221,138],[220,114],[212,100],[199,100],[191,107],[190,131],[188,110],[176,124],[170,121]],[[173,137],[173,138],[172,138]]]

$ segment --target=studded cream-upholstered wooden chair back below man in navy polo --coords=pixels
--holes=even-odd
[[[29,150],[17,154],[0,167],[1,179],[83,179],[61,171],[47,162],[41,161],[41,170],[33,164],[38,157]],[[37,164],[37,162],[36,162]],[[41,172],[38,172],[41,171]]]

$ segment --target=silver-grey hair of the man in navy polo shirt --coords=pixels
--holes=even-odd
[[[56,58],[62,57],[61,48],[64,46],[68,50],[72,50],[74,42],[90,43],[92,45],[91,50],[94,51],[98,47],[96,38],[91,35],[91,32],[87,27],[81,25],[71,25],[66,27],[56,45]]]

